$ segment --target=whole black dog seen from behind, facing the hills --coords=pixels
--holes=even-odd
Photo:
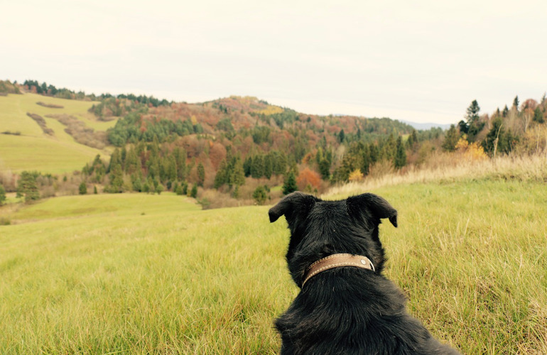
[[[293,192],[269,210],[270,222],[282,215],[291,230],[288,270],[301,290],[276,320],[281,354],[458,354],[408,315],[403,293],[381,274],[380,219],[397,226],[386,200],[363,194],[323,201]],[[338,253],[357,255],[364,266],[309,277],[312,264]]]

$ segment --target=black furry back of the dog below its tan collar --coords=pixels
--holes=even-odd
[[[281,354],[458,354],[405,310],[381,275],[336,268],[311,278],[276,320]]]

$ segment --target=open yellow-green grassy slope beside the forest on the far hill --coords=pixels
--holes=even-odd
[[[62,105],[63,109],[51,109],[37,105],[36,102]],[[71,114],[94,129],[105,130],[114,121],[95,121],[87,112],[92,102],[43,97],[38,94],[9,94],[0,97],[0,131],[21,132],[21,136],[0,134],[0,170],[38,170],[43,173],[66,173],[80,170],[101,151],[74,141],[65,133],[65,126],[46,114]],[[51,137],[42,130],[27,112],[43,116],[50,129],[55,131]],[[104,153],[103,153],[104,155]]]

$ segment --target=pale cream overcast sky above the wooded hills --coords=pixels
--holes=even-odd
[[[547,91],[547,1],[1,1],[0,79],[456,123]]]

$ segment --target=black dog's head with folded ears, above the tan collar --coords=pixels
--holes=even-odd
[[[311,263],[333,253],[367,256],[380,273],[384,266],[384,249],[378,237],[380,219],[387,218],[397,226],[396,209],[369,193],[323,201],[293,192],[269,210],[270,222],[283,215],[291,230],[288,268],[297,285],[302,284]]]

